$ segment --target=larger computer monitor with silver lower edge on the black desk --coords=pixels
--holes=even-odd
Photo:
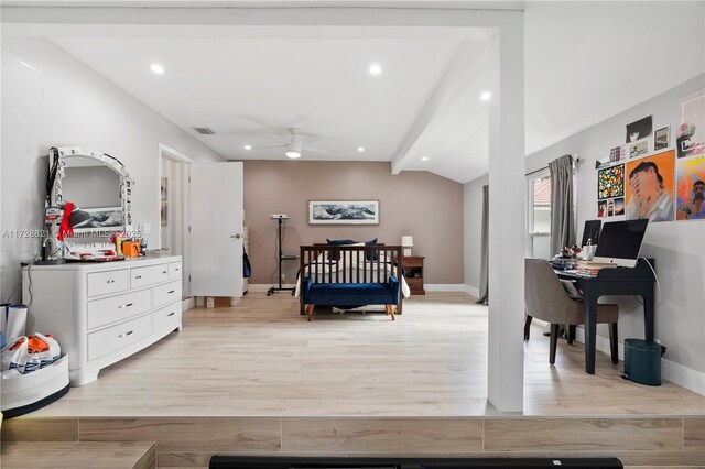
[[[611,221],[605,223],[599,236],[593,262],[633,268],[639,259],[641,241],[647,232],[648,219]]]

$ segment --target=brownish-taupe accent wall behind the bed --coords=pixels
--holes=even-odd
[[[376,226],[308,225],[310,200],[379,200]],[[377,238],[399,244],[414,237],[413,255],[424,255],[426,284],[463,284],[463,185],[427,172],[391,174],[379,162],[245,162],[245,223],[250,228],[251,284],[276,282],[276,220],[286,214],[283,250],[328,239]],[[284,262],[285,283],[299,263]]]

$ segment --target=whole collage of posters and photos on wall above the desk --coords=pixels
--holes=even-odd
[[[627,126],[609,163],[597,162],[598,217],[705,220],[705,89],[681,99],[680,117],[673,145],[671,127],[652,132],[649,116]]]

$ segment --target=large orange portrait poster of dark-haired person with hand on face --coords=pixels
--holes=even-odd
[[[673,221],[674,166],[674,150],[627,163],[625,215],[628,220]]]

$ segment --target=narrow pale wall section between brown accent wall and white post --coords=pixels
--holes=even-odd
[[[482,186],[489,184],[485,175],[463,185],[463,252],[466,291],[479,295],[482,249]]]

